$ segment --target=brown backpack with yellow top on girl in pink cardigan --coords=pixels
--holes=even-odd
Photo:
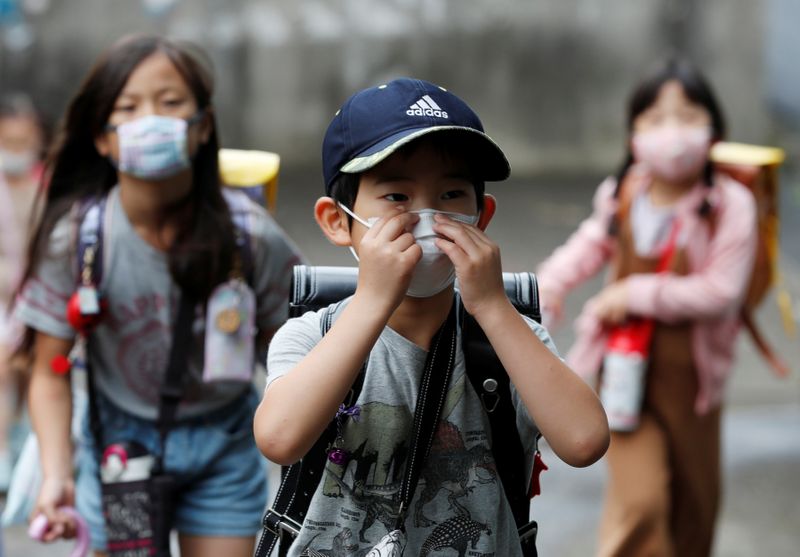
[[[794,335],[795,323],[792,301],[783,282],[778,265],[780,216],[778,214],[778,170],[783,163],[783,149],[719,142],[710,154],[718,171],[747,186],[753,192],[758,211],[758,247],[753,274],[745,298],[742,321],[753,337],[762,355],[778,375],[788,373],[788,368],[775,356],[758,330],[753,310],[763,301],[773,286],[777,289],[778,308],[787,334]]]

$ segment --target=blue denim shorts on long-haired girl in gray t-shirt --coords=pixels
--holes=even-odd
[[[178,479],[174,528],[193,536],[251,537],[261,527],[267,503],[266,460],[253,438],[258,395],[241,399],[202,418],[181,421],[167,436],[164,468]],[[131,416],[97,397],[103,442],[136,440],[160,452],[154,422]],[[103,551],[106,535],[100,503],[97,453],[88,412],[78,447],[75,504],[89,524],[92,547]]]

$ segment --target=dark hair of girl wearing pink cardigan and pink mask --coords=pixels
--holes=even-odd
[[[677,81],[683,87],[686,97],[693,103],[702,106],[711,117],[711,140],[719,141],[725,137],[725,117],[722,114],[716,95],[700,70],[691,62],[681,58],[668,58],[661,63],[655,71],[645,77],[633,90],[628,101],[627,114],[627,151],[622,165],[616,173],[617,189],[614,197],[619,196],[620,185],[634,162],[630,148],[630,136],[633,132],[633,123],[645,110],[650,108],[658,98],[661,87],[668,81]],[[714,178],[714,166],[711,161],[703,169],[703,181],[711,187]],[[710,207],[704,202],[700,207],[701,214],[706,214]],[[615,223],[612,223],[612,231]]]

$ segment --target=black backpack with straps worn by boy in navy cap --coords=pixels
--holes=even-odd
[[[356,267],[295,266],[289,317],[299,317],[307,311],[327,308],[351,296],[355,292],[357,280]],[[506,295],[517,311],[541,322],[536,277],[532,273],[503,273],[503,283]],[[458,296],[456,303],[459,305],[466,373],[489,418],[492,453],[520,532],[523,554],[526,557],[534,556],[536,523],[530,521],[529,517],[530,498],[527,486],[530,478],[525,471],[525,454],[517,431],[508,374],[477,321],[464,311]],[[324,314],[320,325],[323,335],[332,325],[332,313],[327,311]],[[352,405],[358,399],[363,375],[359,374],[353,384],[344,402],[346,406]],[[326,451],[335,436],[336,424],[332,421],[300,461],[282,467],[281,486],[272,506],[264,515],[264,530],[256,548],[256,557],[270,555],[279,540],[279,555],[285,555],[293,539],[300,533],[311,498],[323,476]]]

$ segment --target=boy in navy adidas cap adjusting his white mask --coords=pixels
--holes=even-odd
[[[336,445],[348,460],[327,463],[289,555],[362,555],[392,529],[422,369],[454,303],[456,276],[466,311],[511,380],[528,472],[537,430],[568,464],[599,459],[608,427],[596,396],[563,364],[545,329],[505,295],[499,249],[484,233],[496,208],[484,181],[503,180],[510,168],[477,115],[420,80],[366,89],[331,122],[323,173],[327,196],[314,214],[325,236],[358,259],[357,288],[275,335],[254,429],[270,460],[291,464],[339,416]],[[323,336],[327,312],[333,325]],[[454,351],[436,437],[404,522],[406,554],[451,547],[463,555],[469,542],[475,555],[521,555],[460,342]],[[343,418],[337,410],[365,362],[357,419]]]

